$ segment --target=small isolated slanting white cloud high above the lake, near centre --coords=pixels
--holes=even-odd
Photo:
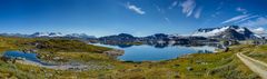
[[[145,14],[145,13],[146,13],[145,11],[141,10],[141,8],[138,8],[138,7],[135,6],[135,4],[130,4],[130,2],[127,3],[127,8],[128,8],[129,10],[135,11],[135,12],[138,13],[138,14]]]

